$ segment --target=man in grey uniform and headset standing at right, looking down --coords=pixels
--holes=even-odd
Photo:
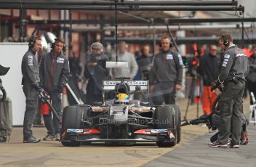
[[[228,137],[232,131],[230,147],[239,148],[241,137],[242,97],[244,94],[245,77],[249,72],[248,58],[233,38],[225,34],[218,39],[224,52],[223,65],[217,82],[223,88],[220,95],[220,132],[217,141],[211,147],[228,147]],[[218,89],[217,89],[218,91]],[[231,126],[232,123],[232,126]]]

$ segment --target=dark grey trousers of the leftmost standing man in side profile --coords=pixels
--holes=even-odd
[[[33,135],[32,125],[36,117],[38,97],[36,89],[30,84],[23,85],[23,92],[25,94],[25,115],[23,121],[23,139],[27,140]]]

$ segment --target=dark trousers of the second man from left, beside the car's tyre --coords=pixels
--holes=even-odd
[[[61,110],[61,96],[60,93],[54,92],[49,93],[49,97],[52,99],[52,107],[55,108],[57,115],[59,116],[60,120],[62,120],[62,110]],[[61,123],[57,121],[55,115],[52,115],[52,112],[49,115],[44,115],[44,124],[47,128],[48,134],[60,134],[61,130]]]

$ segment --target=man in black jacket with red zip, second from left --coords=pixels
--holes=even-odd
[[[68,81],[70,74],[68,59],[63,56],[65,42],[56,38],[52,44],[51,52],[45,54],[40,65],[40,85],[48,92],[52,99],[57,115],[62,118],[61,93]],[[44,115],[44,123],[47,128],[47,136],[44,140],[60,140],[61,123],[57,121],[52,113]]]

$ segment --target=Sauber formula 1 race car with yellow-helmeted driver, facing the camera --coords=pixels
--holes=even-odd
[[[91,142],[156,142],[159,147],[172,147],[179,143],[179,107],[149,106],[148,102],[135,99],[137,94],[148,92],[148,81],[116,79],[103,82],[103,102],[95,102],[94,106],[71,105],[64,108],[61,143],[80,146]],[[105,100],[107,92],[113,92],[116,98]]]

